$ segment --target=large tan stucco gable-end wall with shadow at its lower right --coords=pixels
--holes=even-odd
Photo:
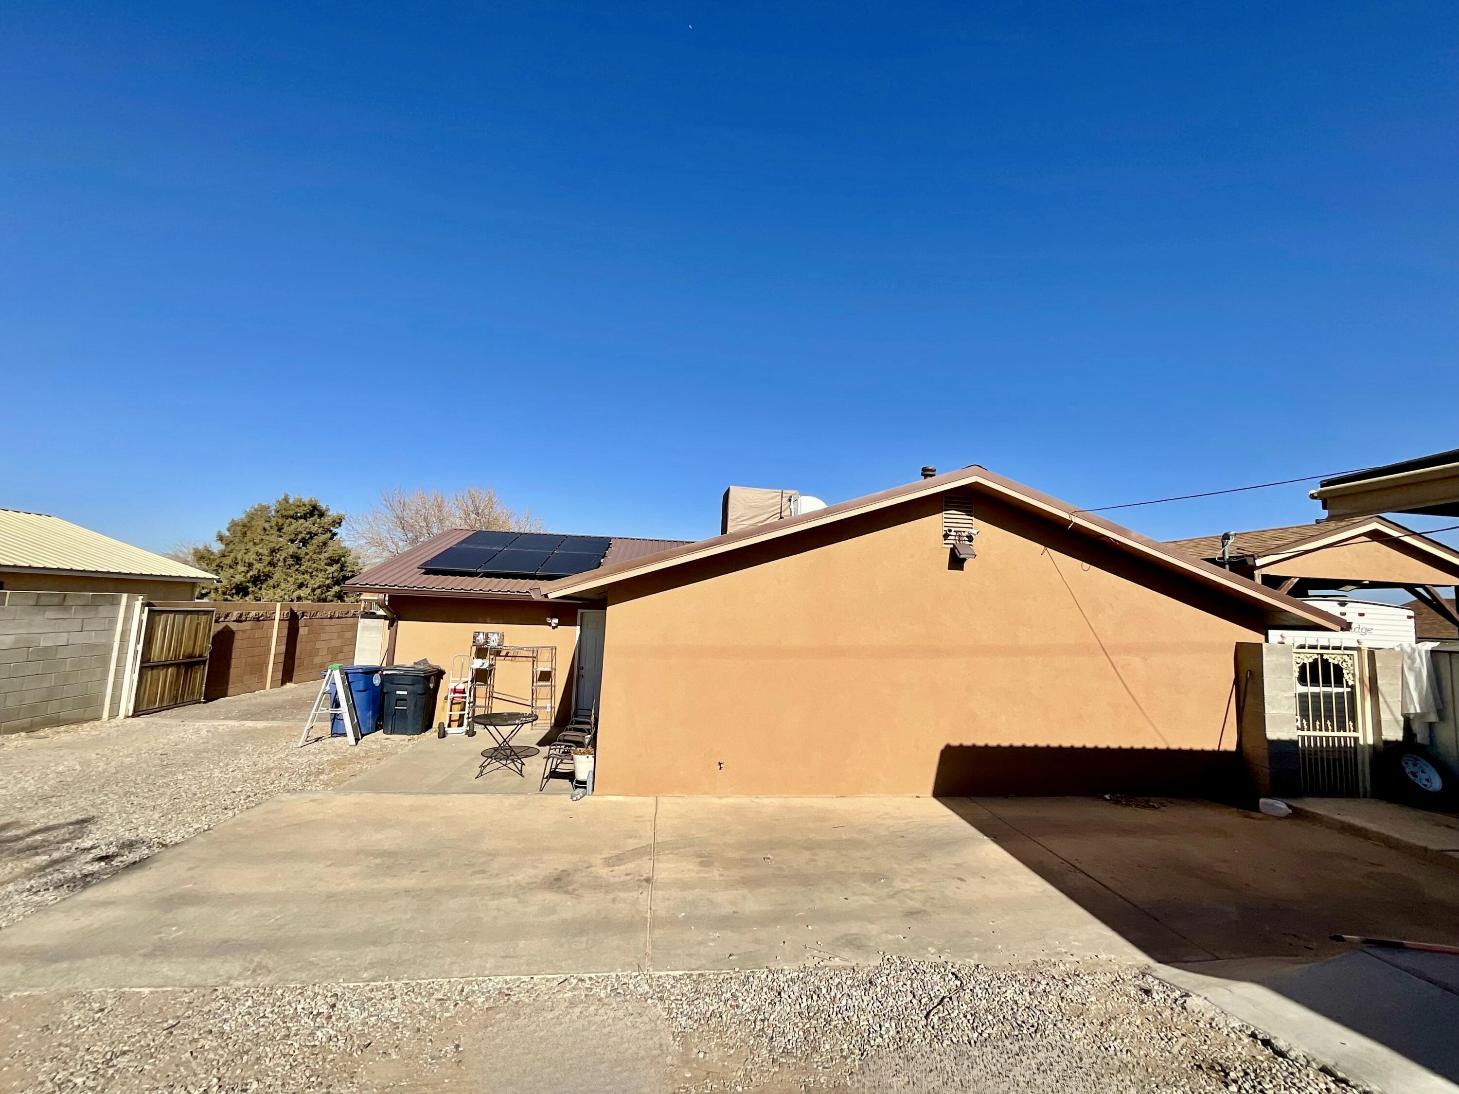
[[[1077,792],[1239,773],[1234,646],[1261,640],[1255,611],[994,502],[976,515],[961,570],[931,499],[748,548],[748,569],[614,586],[597,791]]]

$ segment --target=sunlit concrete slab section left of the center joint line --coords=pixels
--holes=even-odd
[[[0,989],[638,967],[654,802],[535,804],[274,798],[0,932]]]

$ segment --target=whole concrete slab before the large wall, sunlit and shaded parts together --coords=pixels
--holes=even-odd
[[[471,760],[430,744],[406,753]],[[1452,941],[1456,907],[1447,866],[1208,802],[382,786],[274,798],[29,916],[0,990],[1148,955],[1342,1071],[1441,1090],[1453,1062],[1406,1015],[1452,1028],[1453,970],[1326,936]],[[1383,1023],[1341,1011],[1361,999]]]

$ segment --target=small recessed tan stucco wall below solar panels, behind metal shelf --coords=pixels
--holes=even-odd
[[[573,652],[578,646],[578,610],[554,601],[465,600],[452,597],[391,595],[395,614],[394,664],[409,665],[426,658],[451,671],[451,659],[471,652],[473,630],[500,630],[508,646],[554,646],[557,649],[556,723],[572,715]],[[547,617],[560,624],[553,629]],[[498,686],[516,696],[527,696],[531,683],[530,661],[505,661],[498,668]],[[436,719],[445,707],[442,686]]]

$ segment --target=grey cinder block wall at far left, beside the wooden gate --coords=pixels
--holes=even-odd
[[[115,718],[139,600],[0,591],[0,734]]]

